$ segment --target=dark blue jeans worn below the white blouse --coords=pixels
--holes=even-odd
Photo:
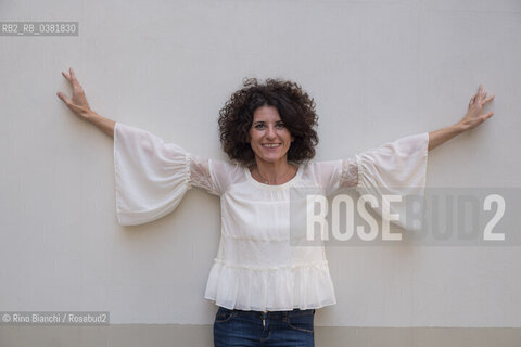
[[[315,309],[242,311],[220,307],[214,321],[214,346],[315,346]]]

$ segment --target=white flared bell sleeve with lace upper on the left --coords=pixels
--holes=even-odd
[[[171,213],[192,187],[219,195],[212,160],[201,158],[153,133],[116,123],[114,172],[116,215],[137,226]]]

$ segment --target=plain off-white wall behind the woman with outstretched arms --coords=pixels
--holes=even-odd
[[[320,116],[316,159],[458,121],[480,83],[495,116],[430,152],[428,187],[519,187],[521,2],[2,1],[1,21],[77,37],[0,37],[0,310],[106,310],[112,323],[211,324],[218,198],[120,227],[113,143],[55,95],[225,158],[218,110],[244,77],[293,79]],[[330,247],[329,326],[521,326],[519,247]]]

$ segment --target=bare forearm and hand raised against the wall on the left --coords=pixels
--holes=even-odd
[[[67,107],[71,108],[71,111],[78,115],[80,118],[90,121],[91,124],[97,126],[98,129],[114,139],[114,126],[116,123],[112,119],[102,117],[92,110],[90,110],[84,88],[76,78],[73,68],[69,68],[68,70],[69,74],[62,72],[62,75],[68,80],[71,87],[73,87],[73,98],[68,99],[62,92],[56,93],[58,98],[60,98],[67,105]]]

